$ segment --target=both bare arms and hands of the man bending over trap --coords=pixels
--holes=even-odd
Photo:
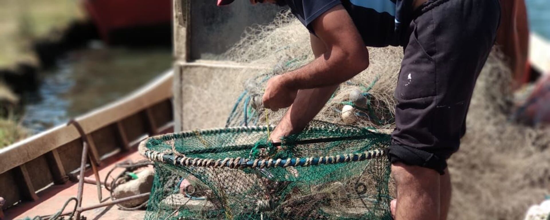
[[[312,26],[315,61],[267,83],[263,105],[274,110],[290,106],[271,133],[273,142],[303,130],[340,83],[368,67],[368,50],[341,4],[320,15]]]

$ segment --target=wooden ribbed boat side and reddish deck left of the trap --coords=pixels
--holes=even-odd
[[[168,70],[127,97],[74,119],[102,177],[116,162],[139,158],[141,140],[173,132],[172,79],[173,70]],[[78,186],[67,177],[78,175],[82,151],[83,135],[74,124],[59,125],[1,149],[0,197],[7,212],[0,211],[0,219],[57,212],[76,195]],[[103,195],[108,194],[103,190]],[[84,206],[97,203],[97,198],[91,199],[96,193],[93,186],[86,185],[84,192]]]

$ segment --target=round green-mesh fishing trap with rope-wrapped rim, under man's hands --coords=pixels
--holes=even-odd
[[[284,138],[273,127],[188,131],[147,139],[155,163],[145,219],[392,219],[390,137],[314,121]]]

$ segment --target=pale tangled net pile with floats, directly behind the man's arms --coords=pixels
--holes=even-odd
[[[390,133],[394,128],[394,91],[403,48],[369,48],[370,66],[340,85],[315,119],[338,124],[376,128]],[[243,38],[224,54],[240,63],[272,67],[244,82],[245,90],[234,103],[226,127],[266,125],[261,98],[267,80],[300,68],[313,60],[309,32],[288,11],[269,25],[249,27]],[[256,71],[256,70],[250,70]],[[344,106],[348,106],[344,108]],[[348,111],[343,117],[342,110]],[[270,112],[271,124],[277,124],[285,109]]]

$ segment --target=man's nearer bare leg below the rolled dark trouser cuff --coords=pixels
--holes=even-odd
[[[433,169],[394,163],[397,184],[396,220],[437,220],[440,216],[440,174]]]

